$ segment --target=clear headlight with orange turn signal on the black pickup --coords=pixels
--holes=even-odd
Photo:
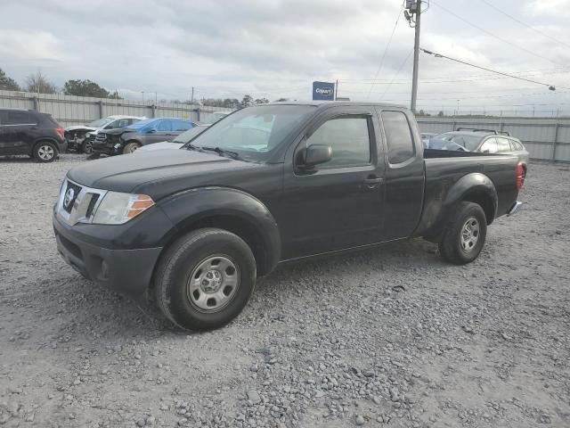
[[[122,225],[154,205],[147,194],[107,192],[95,211],[93,223]]]

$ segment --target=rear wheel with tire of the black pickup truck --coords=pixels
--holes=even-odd
[[[468,221],[469,225],[466,227]],[[463,235],[464,233],[466,235]],[[444,229],[439,252],[447,261],[455,265],[465,265],[478,257],[485,246],[486,236],[485,211],[476,203],[460,202]],[[473,238],[476,238],[476,241],[473,241]]]

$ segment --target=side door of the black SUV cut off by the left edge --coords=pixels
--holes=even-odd
[[[0,150],[4,154],[30,153],[33,128],[37,128],[37,120],[28,111],[3,111]]]

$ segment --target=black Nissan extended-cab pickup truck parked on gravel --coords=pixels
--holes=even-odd
[[[407,109],[274,103],[236,111],[178,151],[69,170],[57,247],[85,277],[153,292],[175,325],[216,328],[281,263],[422,236],[468,263],[517,210],[515,156],[423,150]]]

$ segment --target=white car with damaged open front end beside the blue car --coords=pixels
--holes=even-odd
[[[87,125],[72,125],[65,128],[65,139],[68,141],[68,148],[77,152],[91,153],[95,136],[102,129],[125,128],[134,122],[146,119],[138,116],[115,115],[103,119],[96,119]]]

